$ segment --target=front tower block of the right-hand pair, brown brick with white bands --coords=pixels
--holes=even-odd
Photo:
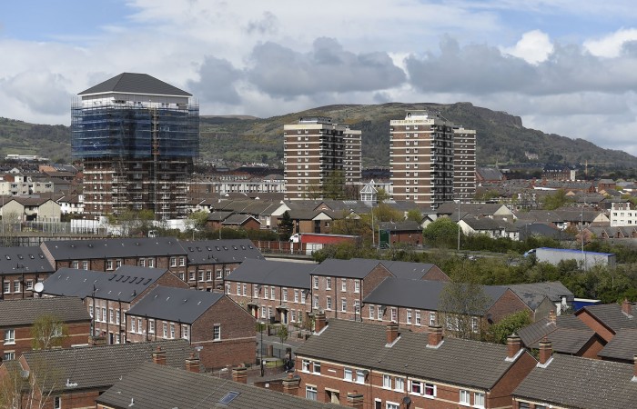
[[[453,199],[454,130],[427,111],[389,122],[389,165],[395,200],[436,206]]]

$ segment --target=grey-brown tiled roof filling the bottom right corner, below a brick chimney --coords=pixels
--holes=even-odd
[[[569,408],[629,408],[637,402],[632,376],[632,364],[554,354],[548,366],[533,368],[513,395]]]

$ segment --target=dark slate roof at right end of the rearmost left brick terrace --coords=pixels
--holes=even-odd
[[[181,242],[188,264],[242,263],[248,259],[263,259],[258,248],[248,239],[195,240]]]

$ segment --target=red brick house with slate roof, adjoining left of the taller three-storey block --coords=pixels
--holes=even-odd
[[[308,323],[309,274],[316,264],[246,260],[226,277],[226,294],[259,321]]]

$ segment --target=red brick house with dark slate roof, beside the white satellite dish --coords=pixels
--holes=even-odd
[[[161,268],[122,265],[114,272],[61,268],[44,282],[45,296],[76,296],[91,317],[93,342],[126,343],[125,312],[157,285],[188,288],[177,275]]]

